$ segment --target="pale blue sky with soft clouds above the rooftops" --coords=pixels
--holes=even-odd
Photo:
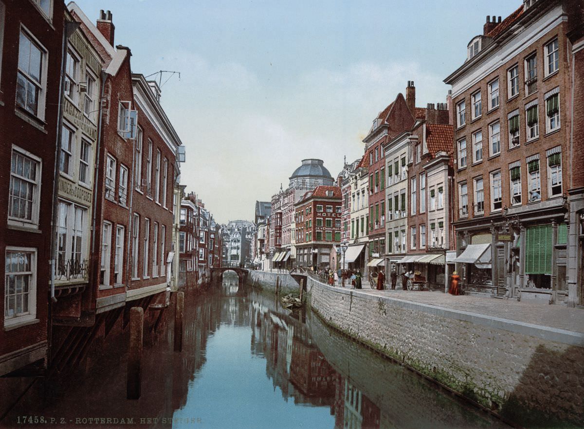
[[[162,75],[161,103],[186,148],[180,181],[221,223],[253,219],[305,158],[336,178],[363,156],[377,114],[408,81],[416,106],[446,102],[486,15],[520,0],[77,0],[112,11],[131,68]],[[158,75],[150,79],[158,78]],[[169,78],[169,79],[168,79]],[[167,81],[168,79],[168,81]]]

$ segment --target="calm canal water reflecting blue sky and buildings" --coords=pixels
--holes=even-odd
[[[172,320],[169,310],[145,334],[139,400],[126,400],[126,333],[34,383],[0,427],[508,427],[310,311],[240,290],[237,276],[186,292],[182,352],[173,352]]]

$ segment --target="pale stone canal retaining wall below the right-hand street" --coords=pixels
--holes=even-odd
[[[506,420],[584,423],[582,334],[311,278],[308,291],[312,309],[328,325]]]

